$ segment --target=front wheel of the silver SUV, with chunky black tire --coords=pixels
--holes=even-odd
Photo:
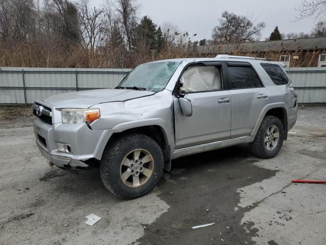
[[[121,199],[150,192],[162,175],[164,159],[159,145],[142,134],[127,135],[108,145],[100,162],[104,186]]]

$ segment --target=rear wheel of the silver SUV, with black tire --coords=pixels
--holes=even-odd
[[[284,126],[276,116],[265,116],[255,139],[250,143],[251,153],[261,158],[275,157],[284,140]]]

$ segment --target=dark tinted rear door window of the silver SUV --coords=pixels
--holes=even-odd
[[[231,88],[262,87],[256,72],[251,66],[228,66]]]

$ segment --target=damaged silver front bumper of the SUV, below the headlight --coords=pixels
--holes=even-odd
[[[43,105],[43,104],[42,104]],[[55,108],[44,104],[55,112]],[[34,121],[36,144],[42,156],[49,162],[66,169],[87,169],[89,159],[100,160],[112,130],[92,130],[83,124],[62,124],[44,121],[37,117]],[[69,145],[69,152],[63,152],[59,145]]]

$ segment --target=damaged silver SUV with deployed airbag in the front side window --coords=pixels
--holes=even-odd
[[[71,170],[99,166],[105,187],[132,199],[178,157],[241,143],[255,156],[276,156],[297,103],[279,62],[220,55],[142,64],[114,89],[53,95],[33,113],[47,160]]]

